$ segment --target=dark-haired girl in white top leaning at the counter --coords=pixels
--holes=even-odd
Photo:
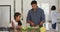
[[[12,20],[11,24],[12,24],[12,28],[14,28],[15,30],[16,29],[21,29],[21,21],[20,21],[20,17],[21,17],[21,14],[19,12],[16,12],[14,14],[14,20]]]

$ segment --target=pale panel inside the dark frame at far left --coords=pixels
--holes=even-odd
[[[10,23],[10,6],[0,5],[0,27],[8,27]]]

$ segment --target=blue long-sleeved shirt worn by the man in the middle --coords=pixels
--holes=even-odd
[[[37,8],[34,12],[33,9],[29,10],[27,15],[27,22],[31,20],[35,25],[39,25],[41,21],[45,20],[44,11],[41,8]]]

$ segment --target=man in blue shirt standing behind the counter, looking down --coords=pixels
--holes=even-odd
[[[43,22],[45,21],[44,11],[37,6],[37,1],[31,2],[32,9],[29,10],[27,15],[27,23],[30,26],[43,26]]]

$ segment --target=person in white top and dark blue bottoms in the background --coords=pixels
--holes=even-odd
[[[53,28],[53,30],[56,30],[57,12],[56,12],[55,6],[51,7],[51,18],[52,18],[52,28]]]

